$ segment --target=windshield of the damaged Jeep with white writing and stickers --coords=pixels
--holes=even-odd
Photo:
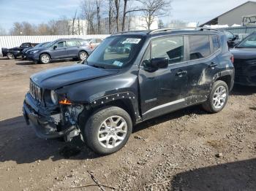
[[[87,64],[106,69],[127,66],[137,57],[144,40],[143,36],[111,36],[91,53]]]

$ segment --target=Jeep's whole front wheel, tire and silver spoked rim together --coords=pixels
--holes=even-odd
[[[127,144],[132,133],[132,120],[124,109],[109,106],[89,117],[83,133],[94,152],[110,155]]]

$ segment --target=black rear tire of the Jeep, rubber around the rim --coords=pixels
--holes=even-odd
[[[220,106],[214,106],[214,98],[216,95],[214,95],[214,93],[216,93],[217,90],[219,90],[219,88],[224,87],[225,88],[225,93],[226,93],[226,97],[225,97],[225,101],[221,101]],[[225,105],[227,104],[227,99],[228,99],[228,95],[229,95],[229,89],[227,87],[226,82],[223,82],[222,80],[218,80],[216,82],[214,82],[214,85],[211,89],[211,93],[208,96],[208,100],[202,104],[203,109],[206,110],[206,112],[210,112],[210,113],[217,113],[222,111],[222,109],[225,107]]]

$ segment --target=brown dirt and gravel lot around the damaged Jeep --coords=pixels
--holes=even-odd
[[[218,114],[194,106],[143,122],[101,157],[79,140],[37,138],[22,117],[29,76],[72,63],[1,58],[0,190],[99,190],[71,189],[94,184],[90,174],[117,190],[256,190],[255,87],[235,87]]]

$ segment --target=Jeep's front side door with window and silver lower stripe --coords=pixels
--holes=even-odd
[[[151,41],[139,71],[143,120],[185,106],[188,78],[184,55],[184,36],[169,36]],[[145,63],[152,58],[167,58],[169,64],[166,69],[150,71]]]

